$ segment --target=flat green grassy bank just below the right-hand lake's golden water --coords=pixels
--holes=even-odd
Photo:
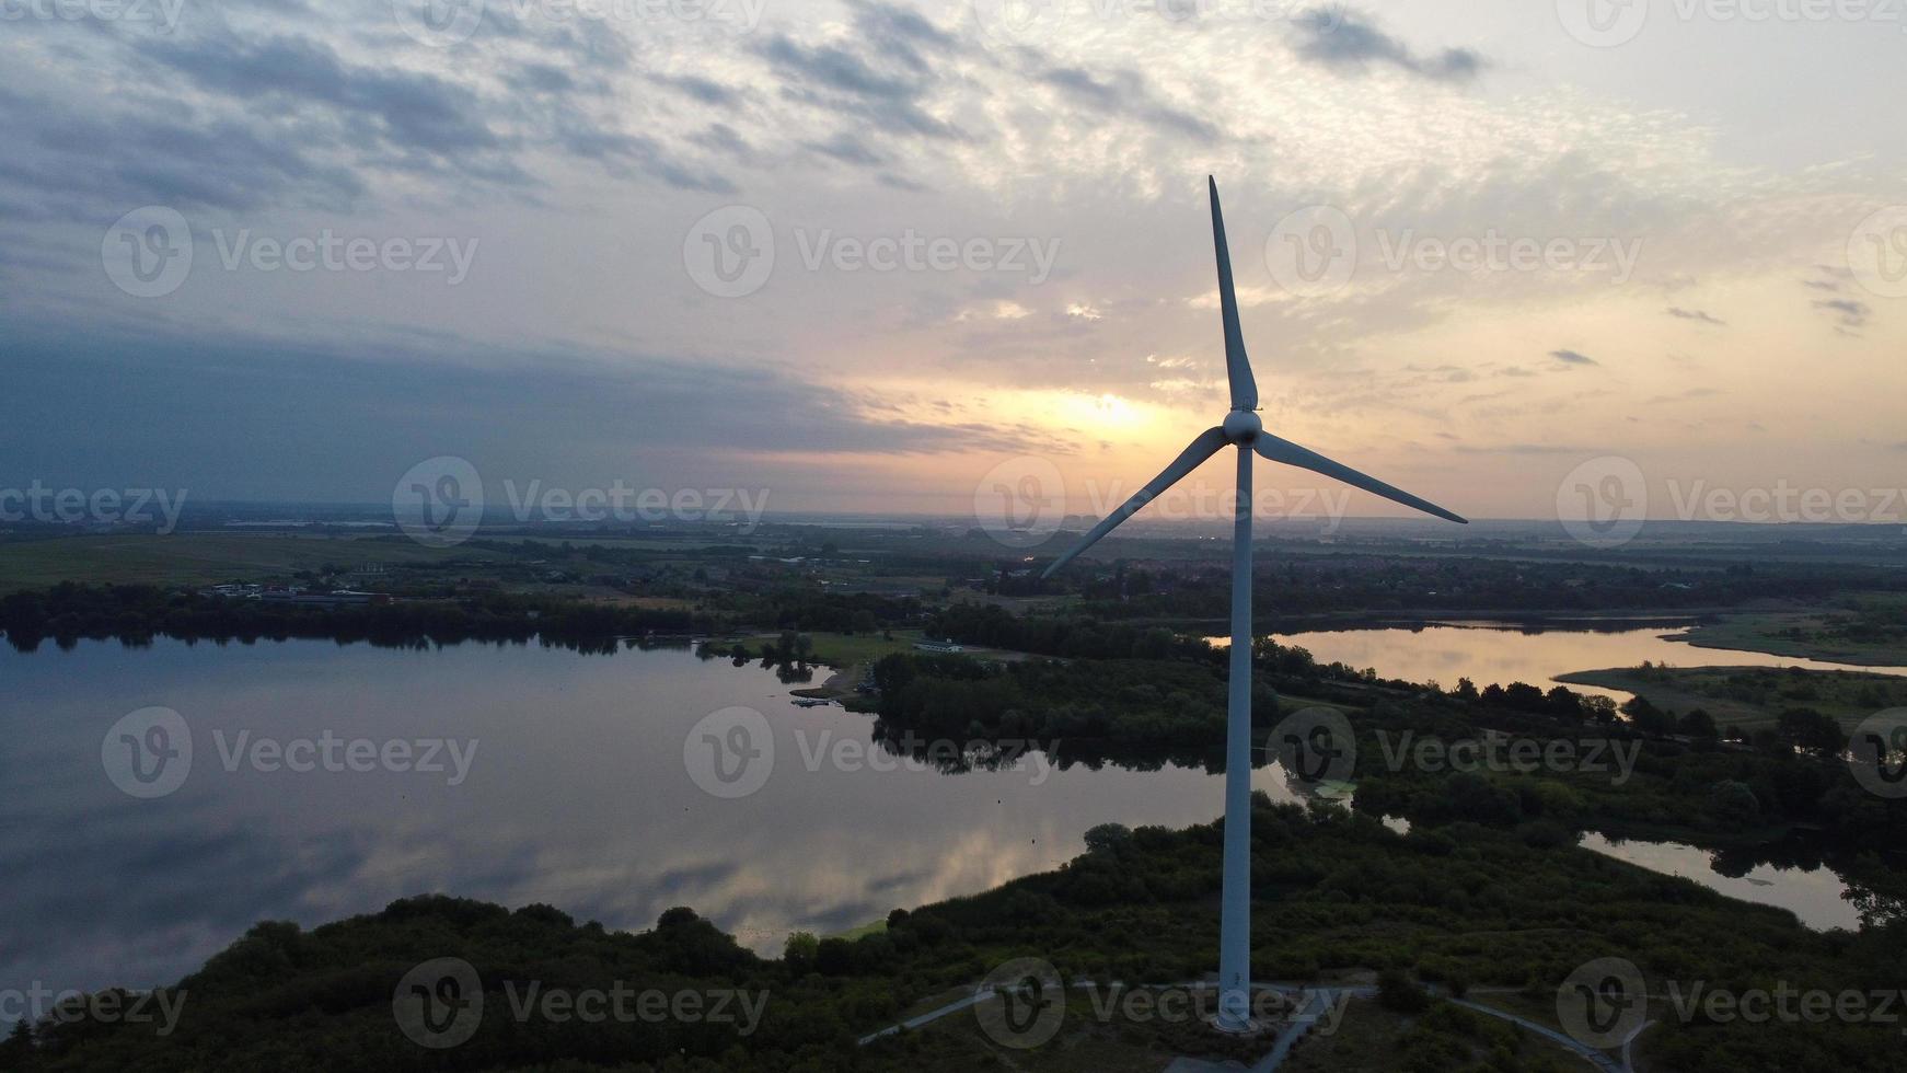
[[[1907,678],[1861,671],[1611,667],[1558,675],[1556,680],[1625,690],[1676,713],[1701,707],[1716,724],[1747,730],[1774,726],[1791,707],[1812,707],[1838,719],[1846,728],[1854,728],[1876,711],[1907,707]]]

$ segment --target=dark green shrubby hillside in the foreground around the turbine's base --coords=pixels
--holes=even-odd
[[[1392,1067],[1425,1056],[1507,1052],[1543,1069],[1560,1052],[1430,1002],[1419,983],[1522,993],[1531,1016],[1585,961],[1627,957],[1651,980],[1709,987],[1899,987],[1907,924],[1814,934],[1793,915],[1724,900],[1577,848],[1533,848],[1474,823],[1398,835],[1331,806],[1272,806],[1253,823],[1253,957],[1272,978],[1379,972],[1384,1002],[1413,1010]],[[687,909],[643,934],[578,924],[549,907],[505,911],[452,898],[397,901],[313,930],[265,922],[181,980],[179,1027],[42,1022],[0,1046],[0,1062],[51,1069],[957,1069],[973,1033],[904,1033],[868,1048],[860,1033],[904,1006],[971,985],[1013,957],[1041,957],[1070,980],[1196,978],[1217,941],[1220,829],[1102,831],[1058,871],[973,898],[894,911],[858,940],[795,936],[759,959]],[[391,1016],[414,964],[461,957],[479,968],[486,1016],[456,1048],[423,1050]],[[507,1012],[505,982],[545,987],[765,989],[759,1031],[719,1023],[549,1023]],[[1892,1025],[1682,1023],[1642,1041],[1678,1073],[1846,1073],[1896,1069]],[[1056,1058],[1066,1046],[1053,1044]],[[1196,1046],[1203,1033],[1180,1043]],[[1463,1046],[1459,1046],[1459,1041]],[[1213,1044],[1217,1046],[1217,1044]],[[961,1058],[950,1058],[950,1056]],[[980,1056],[986,1050],[980,1046]],[[1018,1054],[1037,1067],[1045,1050]],[[1554,1067],[1564,1069],[1560,1062]]]

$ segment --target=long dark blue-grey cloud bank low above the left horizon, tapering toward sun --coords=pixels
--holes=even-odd
[[[879,414],[873,398],[837,385],[719,360],[523,353],[465,339],[347,354],[284,341],[120,339],[99,326],[57,337],[0,328],[10,335],[0,347],[0,457],[76,482],[143,473],[208,496],[362,501],[439,454],[484,471],[606,480],[645,452],[685,465],[730,459],[721,465],[732,471],[789,454],[1024,454],[1047,440],[1024,425]],[[76,440],[72,414],[101,435]],[[235,442],[250,444],[244,457],[231,454]]]

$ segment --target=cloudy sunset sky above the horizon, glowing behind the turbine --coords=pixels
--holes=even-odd
[[[1270,431],[1899,522],[1903,59],[1880,0],[0,0],[0,490],[1104,513],[1226,410],[1215,175]]]

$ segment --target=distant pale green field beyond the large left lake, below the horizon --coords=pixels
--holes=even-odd
[[[299,570],[332,566],[427,566],[463,560],[507,562],[490,551],[435,549],[408,539],[286,536],[286,534],[174,534],[78,536],[0,543],[0,593],[44,589],[61,581],[210,585],[265,581]]]

